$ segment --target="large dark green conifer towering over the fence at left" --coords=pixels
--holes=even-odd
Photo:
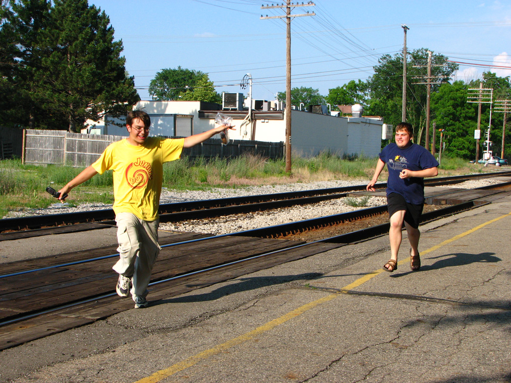
[[[140,98],[108,16],[86,0],[53,4],[11,0],[0,33],[17,41],[14,97],[28,101],[29,125],[75,131],[87,118],[126,113]]]

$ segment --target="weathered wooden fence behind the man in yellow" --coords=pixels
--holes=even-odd
[[[27,129],[23,137],[22,162],[85,167],[96,161],[111,142],[123,138],[125,137],[69,133],[63,130]],[[228,145],[222,145],[220,139],[210,138],[193,148],[183,150],[183,155],[190,158],[234,158],[244,153],[264,158],[283,158],[284,142],[231,140]]]

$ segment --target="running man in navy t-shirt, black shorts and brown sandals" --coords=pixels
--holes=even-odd
[[[435,177],[438,174],[438,161],[427,149],[413,143],[412,137],[413,128],[409,123],[403,122],[396,126],[396,142],[383,148],[373,179],[366,187],[371,192],[375,191],[374,185],[386,164],[390,259],[383,265],[383,269],[388,272],[398,269],[403,224],[410,242],[410,269],[417,271],[421,268],[419,223],[424,207],[424,177]]]

